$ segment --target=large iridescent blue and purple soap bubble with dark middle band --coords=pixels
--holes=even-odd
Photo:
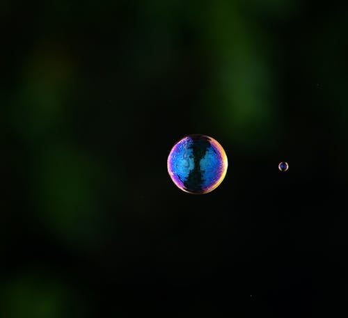
[[[193,134],[182,138],[168,156],[168,173],[182,191],[203,194],[216,189],[227,172],[225,150],[212,137]]]

